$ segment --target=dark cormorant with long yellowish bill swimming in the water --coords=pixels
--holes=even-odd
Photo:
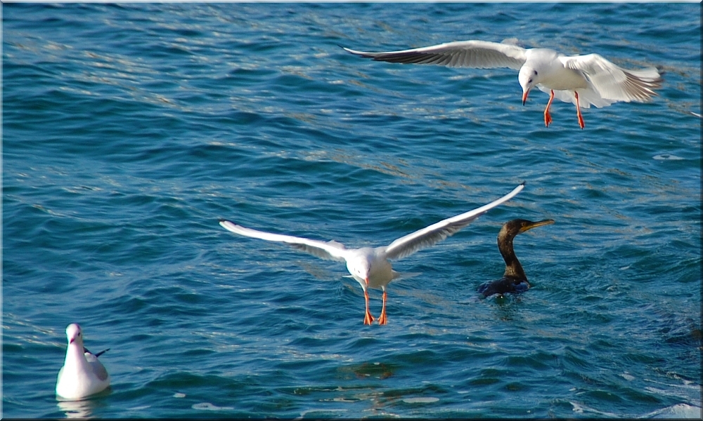
[[[505,222],[501,227],[501,232],[498,232],[498,250],[501,250],[501,255],[505,260],[505,274],[497,281],[482,283],[478,288],[479,293],[483,294],[484,297],[494,294],[524,293],[529,288],[529,282],[520,261],[517,260],[515,250],[512,249],[512,239],[528,229],[553,223],[554,220],[532,222],[521,219]]]

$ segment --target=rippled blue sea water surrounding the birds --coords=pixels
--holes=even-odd
[[[699,4],[4,4],[4,417],[665,417],[701,405]],[[583,112],[517,72],[394,65],[461,39],[624,67]],[[380,246],[387,326],[342,263],[226,232]],[[503,274],[512,218],[532,288]],[[380,291],[371,290],[380,313]],[[80,323],[108,394],[58,403]]]

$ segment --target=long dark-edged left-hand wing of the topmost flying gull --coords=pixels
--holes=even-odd
[[[376,61],[443,65],[447,67],[474,67],[477,69],[510,67],[510,69],[517,70],[527,60],[524,48],[515,44],[489,41],[454,41],[436,46],[388,51],[385,53],[367,53],[349,48],[344,48],[344,50]]]

